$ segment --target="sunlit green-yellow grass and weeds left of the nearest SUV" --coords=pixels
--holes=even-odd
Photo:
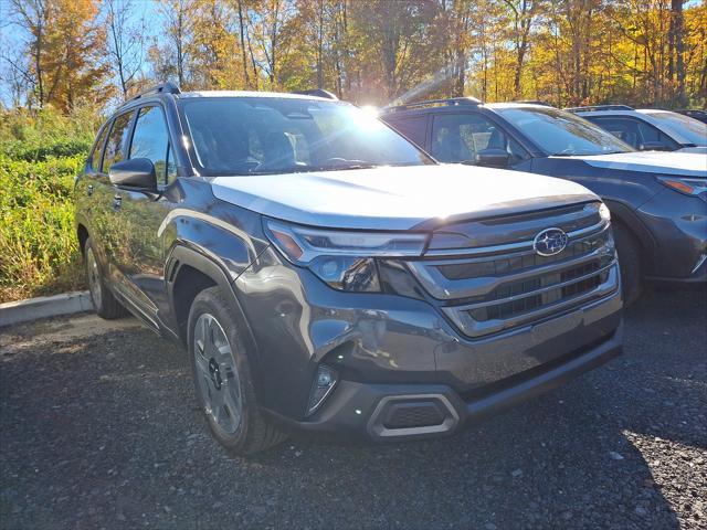
[[[0,110],[0,301],[84,287],[71,195],[99,119]]]

